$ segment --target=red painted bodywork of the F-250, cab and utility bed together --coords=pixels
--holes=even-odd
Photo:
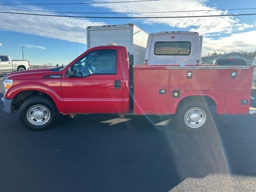
[[[92,74],[83,78],[67,78],[70,66],[93,50],[115,49],[116,74]],[[198,66],[198,65],[195,65]],[[190,66],[193,67],[193,66]],[[200,66],[201,67],[201,66]],[[204,66],[202,66],[204,67]],[[211,65],[211,68],[214,66]],[[187,78],[187,72],[192,78]],[[232,71],[237,72],[235,79]],[[253,67],[249,69],[166,69],[166,66],[134,66],[134,114],[175,114],[181,100],[188,96],[207,96],[215,104],[218,114],[247,114],[250,101]],[[62,74],[59,79],[42,78]],[[50,69],[28,70],[8,74],[13,86],[6,98],[14,98],[26,90],[48,94],[60,113],[130,113],[130,69],[127,49],[124,46],[94,47],[78,56],[62,71]],[[121,88],[114,89],[114,81],[121,81]],[[166,94],[159,94],[166,89]],[[172,90],[180,90],[180,97],[173,98]]]

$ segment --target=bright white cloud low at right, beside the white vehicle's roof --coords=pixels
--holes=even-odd
[[[256,30],[250,32],[231,34],[217,40],[204,38],[202,55],[209,52],[230,52],[230,51],[255,51],[256,50]]]

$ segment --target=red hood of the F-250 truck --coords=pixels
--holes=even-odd
[[[25,71],[12,72],[5,76],[6,79],[41,79],[46,75],[62,74],[62,71],[51,71],[51,68],[32,69]]]

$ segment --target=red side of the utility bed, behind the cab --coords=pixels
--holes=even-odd
[[[202,66],[203,67],[203,66]],[[234,67],[235,68],[235,67]],[[192,79],[187,72],[192,72]],[[237,77],[231,78],[232,71]],[[250,69],[166,69],[166,66],[134,66],[134,113],[175,114],[179,102],[188,96],[208,96],[216,104],[218,114],[248,114],[252,72]],[[167,94],[158,94],[166,89]],[[180,90],[180,98],[172,98],[172,90]]]

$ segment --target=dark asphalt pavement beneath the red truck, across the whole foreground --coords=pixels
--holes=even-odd
[[[256,116],[213,117],[200,134],[172,116],[114,114],[35,132],[0,110],[0,191],[256,191]]]

